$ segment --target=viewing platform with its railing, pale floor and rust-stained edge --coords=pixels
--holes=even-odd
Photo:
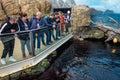
[[[39,29],[39,31],[44,32],[46,29]],[[41,62],[44,58],[46,58],[48,55],[50,55],[53,51],[55,51],[57,48],[59,48],[61,45],[63,45],[65,42],[67,42],[69,39],[71,39],[73,37],[72,34],[72,28],[69,28],[69,32],[61,32],[61,36],[59,39],[54,40],[52,38],[52,43],[49,45],[43,45],[42,42],[41,43],[41,47],[40,49],[33,49],[33,40],[32,40],[32,35],[33,32],[36,30],[30,30],[27,32],[17,32],[15,33],[15,46],[14,46],[14,52],[13,52],[13,57],[17,60],[16,62],[10,62],[9,61],[9,57],[7,55],[6,58],[6,65],[2,65],[0,63],[0,78],[5,77],[7,75],[13,74],[15,72],[27,69],[29,67],[35,66],[36,64],[38,64],[39,62]],[[30,45],[31,45],[31,50],[33,53],[33,56],[30,56],[27,48],[26,48],[26,58],[23,58],[22,56],[22,52],[21,52],[21,44],[20,44],[20,39],[18,38],[18,33],[24,34],[24,33],[29,33],[30,35]],[[54,30],[54,34],[55,34],[55,30]],[[6,36],[6,35],[13,35],[13,34],[5,34],[2,35]],[[37,37],[37,35],[36,35]],[[46,42],[46,35],[44,33],[44,39]],[[41,40],[40,40],[41,41]],[[37,42],[36,42],[37,44]],[[4,49],[2,42],[0,41],[0,56],[2,55],[2,51]]]

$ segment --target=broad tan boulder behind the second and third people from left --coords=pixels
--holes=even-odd
[[[42,13],[48,14],[51,10],[51,4],[48,0],[31,0],[30,2],[21,3],[21,11],[27,12],[28,17],[36,14],[36,12],[41,11]]]

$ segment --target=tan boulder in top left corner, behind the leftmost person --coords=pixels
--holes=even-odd
[[[16,15],[19,12],[20,12],[20,9],[17,2],[13,0],[0,1],[0,20],[3,20],[10,15]]]

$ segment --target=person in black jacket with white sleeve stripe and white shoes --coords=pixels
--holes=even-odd
[[[1,41],[4,45],[3,53],[1,56],[1,63],[6,64],[6,56],[9,54],[9,61],[15,62],[16,59],[13,58],[13,50],[15,44],[14,34],[16,31],[19,31],[18,25],[16,23],[16,17],[10,16],[7,21],[5,21],[0,27]],[[7,35],[5,35],[7,34]]]

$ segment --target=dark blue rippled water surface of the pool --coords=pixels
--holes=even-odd
[[[64,80],[120,80],[120,46],[74,41],[53,64]]]

